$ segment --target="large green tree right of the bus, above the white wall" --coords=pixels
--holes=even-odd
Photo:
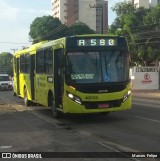
[[[117,17],[110,33],[127,37],[132,62],[150,65],[159,59],[160,5],[151,9],[136,8],[131,3],[117,3],[113,8]]]

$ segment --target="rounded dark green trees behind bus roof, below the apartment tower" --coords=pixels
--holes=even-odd
[[[53,40],[56,38],[77,34],[95,33],[86,24],[78,22],[71,27],[62,24],[58,18],[52,16],[37,17],[30,25],[29,36],[33,43],[43,40]]]

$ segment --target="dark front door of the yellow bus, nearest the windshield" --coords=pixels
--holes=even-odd
[[[64,49],[54,50],[54,97],[55,106],[62,106],[64,94]]]

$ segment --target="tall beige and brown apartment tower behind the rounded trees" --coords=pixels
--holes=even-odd
[[[105,0],[52,0],[52,16],[71,26],[83,22],[97,33],[108,30],[108,1]]]

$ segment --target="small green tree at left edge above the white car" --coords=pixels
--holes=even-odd
[[[0,54],[0,73],[13,75],[12,59],[13,55],[11,53],[3,52]]]

